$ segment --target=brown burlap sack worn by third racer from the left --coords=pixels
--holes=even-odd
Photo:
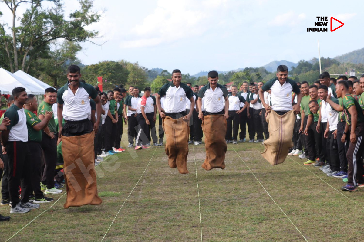
[[[227,122],[223,115],[206,115],[202,121],[205,134],[206,159],[202,168],[210,171],[213,168],[225,168],[225,142]]]

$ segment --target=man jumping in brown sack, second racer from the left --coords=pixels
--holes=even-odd
[[[157,95],[157,108],[163,119],[163,130],[166,134],[166,155],[170,168],[178,168],[179,173],[189,173],[187,170],[188,136],[190,128],[188,121],[192,116],[195,100],[192,89],[181,83],[180,70],[172,71],[172,81],[162,86]],[[161,109],[161,97],[165,96],[164,110]],[[186,97],[191,101],[190,112],[186,115]]]

